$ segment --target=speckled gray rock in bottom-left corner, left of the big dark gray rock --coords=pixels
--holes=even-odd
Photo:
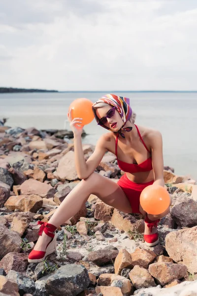
[[[33,294],[35,291],[35,283],[23,273],[10,270],[6,275],[8,279],[15,282],[19,287],[19,294],[23,296],[25,293]]]

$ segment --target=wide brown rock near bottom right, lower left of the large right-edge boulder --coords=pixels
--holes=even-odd
[[[162,286],[173,279],[181,279],[187,274],[187,267],[185,265],[170,262],[150,264],[148,270]]]

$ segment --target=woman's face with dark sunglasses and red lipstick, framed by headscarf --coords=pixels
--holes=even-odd
[[[123,120],[116,110],[110,105],[97,109],[97,116],[104,126],[110,130],[117,132],[123,126]]]

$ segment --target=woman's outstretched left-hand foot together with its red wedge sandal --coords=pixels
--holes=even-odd
[[[49,254],[56,251],[57,246],[57,234],[54,231],[56,226],[47,222],[38,222],[41,224],[39,230],[39,238],[33,251],[29,254],[28,262],[38,263],[43,261]]]

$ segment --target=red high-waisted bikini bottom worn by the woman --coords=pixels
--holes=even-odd
[[[123,189],[130,201],[132,213],[139,213],[139,197],[142,190],[154,183],[154,180],[147,183],[135,183],[128,179],[126,173],[119,179],[117,184]]]

